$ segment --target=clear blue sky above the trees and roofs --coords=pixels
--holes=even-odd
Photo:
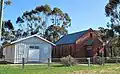
[[[12,0],[12,5],[4,11],[4,19],[12,20],[14,26],[17,26],[16,18],[24,11],[48,4],[52,8],[58,7],[69,14],[72,19],[69,33],[88,28],[98,29],[100,26],[106,27],[107,18],[104,7],[107,2],[108,0]]]

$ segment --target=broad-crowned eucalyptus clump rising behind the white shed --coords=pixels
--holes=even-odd
[[[39,34],[52,42],[67,33],[70,22],[67,13],[56,7],[51,9],[49,5],[37,6],[31,11],[26,11],[16,21],[21,27],[19,30],[22,31],[22,36]]]

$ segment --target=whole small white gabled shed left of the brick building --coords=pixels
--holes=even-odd
[[[48,58],[50,58],[51,62],[53,45],[55,44],[38,35],[32,35],[11,42],[10,45],[3,49],[3,55],[5,61],[11,63],[22,63],[22,58],[25,58],[25,63],[47,63]]]

